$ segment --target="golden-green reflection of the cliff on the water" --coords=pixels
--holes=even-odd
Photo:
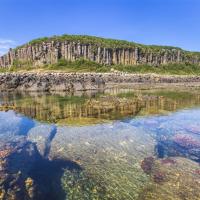
[[[57,124],[87,125],[130,116],[166,114],[200,105],[197,90],[110,90],[101,93],[1,93],[0,110]]]

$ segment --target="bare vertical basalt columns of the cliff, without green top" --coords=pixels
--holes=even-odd
[[[127,47],[112,48],[98,44],[85,44],[73,41],[50,41],[36,44],[27,44],[21,48],[10,50],[0,58],[0,66],[11,66],[15,60],[31,63],[35,66],[54,64],[59,59],[75,61],[87,59],[100,64],[150,64],[161,65],[167,63],[199,64],[200,56],[190,55],[177,48],[160,48],[158,51],[151,48]]]

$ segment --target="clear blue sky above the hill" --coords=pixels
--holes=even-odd
[[[60,34],[200,51],[200,0],[0,0],[0,27],[0,54]]]

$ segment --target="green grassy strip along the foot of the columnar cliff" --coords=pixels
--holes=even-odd
[[[61,72],[126,72],[126,73],[155,73],[169,75],[200,75],[200,66],[191,64],[170,64],[161,66],[137,65],[122,66],[112,65],[106,66],[88,60],[77,60],[70,62],[59,60],[53,65],[44,67],[33,67],[30,63],[16,62],[9,70],[1,69],[0,72],[20,72],[20,71],[61,71]]]

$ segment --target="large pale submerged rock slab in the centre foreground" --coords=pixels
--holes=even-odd
[[[63,126],[57,128],[49,157],[72,160],[83,167],[88,182],[94,184],[96,191],[104,191],[101,199],[137,199],[149,179],[140,168],[141,159],[154,154],[154,145],[151,135],[128,123]],[[68,191],[70,179],[62,180]],[[82,180],[75,180],[73,191],[80,192],[79,181]],[[88,188],[92,195],[94,187]]]

